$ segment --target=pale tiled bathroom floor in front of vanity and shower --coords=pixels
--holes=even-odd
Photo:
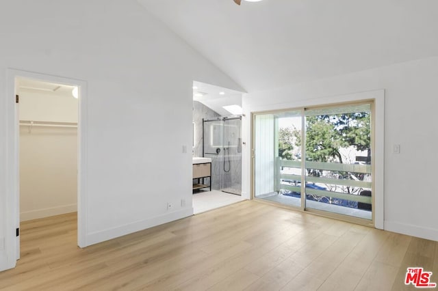
[[[198,191],[193,193],[194,214],[227,206],[244,200],[240,195],[224,193],[222,191]]]

